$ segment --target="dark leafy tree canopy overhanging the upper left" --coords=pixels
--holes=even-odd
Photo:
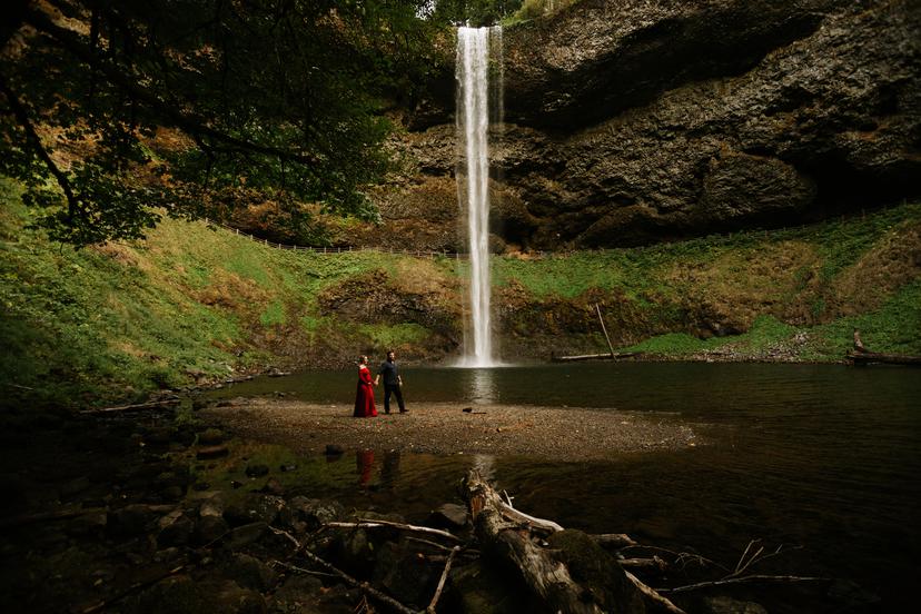
[[[0,172],[76,245],[254,195],[373,215],[383,111],[432,70],[427,4],[8,0]]]

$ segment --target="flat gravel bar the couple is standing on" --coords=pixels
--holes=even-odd
[[[234,399],[201,410],[247,438],[300,453],[327,445],[432,454],[493,454],[558,460],[603,459],[620,453],[701,445],[676,416],[613,409],[512,405],[424,404],[406,414],[353,418],[351,406]],[[467,410],[465,410],[467,409]]]

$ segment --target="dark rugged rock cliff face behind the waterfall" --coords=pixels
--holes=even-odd
[[[917,1],[585,0],[504,39],[493,201],[513,248],[795,225],[921,195]],[[425,189],[433,224],[450,225],[453,103],[410,122],[415,175],[380,199],[385,220]]]

